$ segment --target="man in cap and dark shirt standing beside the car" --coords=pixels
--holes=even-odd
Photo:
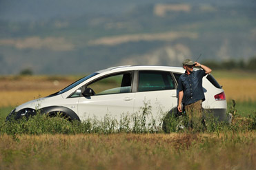
[[[193,71],[194,66],[201,67],[202,70]],[[178,111],[182,112],[181,103],[183,103],[190,121],[190,126],[193,127],[193,119],[202,118],[201,103],[205,100],[202,79],[206,74],[212,72],[212,70],[206,67],[206,65],[201,65],[197,62],[194,63],[190,59],[186,59],[183,62],[183,67],[186,72],[179,77]]]

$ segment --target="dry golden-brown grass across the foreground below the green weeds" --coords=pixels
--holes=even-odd
[[[0,169],[254,169],[255,132],[0,138]]]

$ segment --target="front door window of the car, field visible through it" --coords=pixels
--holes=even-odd
[[[115,74],[101,78],[87,87],[93,89],[96,95],[128,93],[131,92],[131,77],[132,74],[130,72]]]

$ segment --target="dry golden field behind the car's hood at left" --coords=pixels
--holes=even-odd
[[[0,78],[0,107],[17,106],[63,89],[76,78],[19,76]]]

